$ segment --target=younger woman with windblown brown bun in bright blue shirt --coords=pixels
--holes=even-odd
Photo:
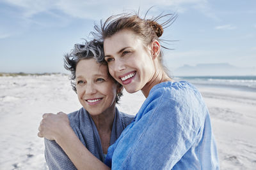
[[[98,30],[104,40],[101,60],[108,62],[111,76],[127,92],[141,90],[147,97],[134,122],[109,147],[105,163],[113,169],[218,169],[201,94],[164,71],[163,26],[132,15],[111,17]]]

